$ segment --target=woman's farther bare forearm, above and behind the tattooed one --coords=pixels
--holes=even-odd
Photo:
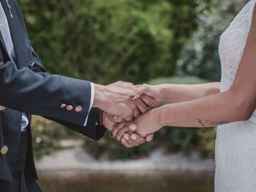
[[[220,82],[205,84],[160,84],[155,88],[159,93],[159,101],[162,103],[178,103],[195,100],[220,92]]]

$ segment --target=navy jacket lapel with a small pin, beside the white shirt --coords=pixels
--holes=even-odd
[[[15,5],[14,0],[9,0],[9,4],[11,6],[11,10],[12,10],[12,14],[13,14],[13,18],[11,18],[10,16],[10,12],[8,10],[8,7],[6,5],[5,0],[0,0],[8,21],[8,25],[10,28],[10,33],[11,33],[11,37],[12,37],[12,43],[14,46],[14,52],[16,55],[16,64],[17,66],[23,67],[23,66],[28,66],[28,52],[26,51],[25,46],[25,42],[24,42],[24,37],[23,37],[23,33],[22,33],[22,28],[21,25],[19,23],[19,19],[18,19],[18,12],[15,9],[17,5]]]

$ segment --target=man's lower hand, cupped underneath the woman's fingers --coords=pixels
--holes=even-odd
[[[112,120],[113,116],[108,115],[106,112],[103,112],[102,114],[102,123],[103,126],[105,126],[110,132],[113,130],[113,128],[118,124],[118,122],[114,122]],[[131,126],[134,124],[134,122],[129,122],[126,125]],[[134,132],[130,131],[129,128],[126,126],[128,129],[126,133],[124,134],[123,138],[121,139],[121,143],[127,147],[131,148],[134,146],[139,146],[140,144],[143,144],[146,142],[146,139],[143,137],[140,137],[139,135],[135,134]],[[120,139],[119,139],[120,141]]]

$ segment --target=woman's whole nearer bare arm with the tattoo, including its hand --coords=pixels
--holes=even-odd
[[[142,114],[135,122],[141,136],[162,126],[211,127],[250,119],[256,108],[256,12],[232,86],[225,92],[167,104]],[[142,87],[138,90],[143,90]],[[134,98],[137,97],[135,93]],[[146,93],[147,94],[147,93]],[[122,135],[122,128],[118,135]],[[118,129],[114,129],[116,132]]]

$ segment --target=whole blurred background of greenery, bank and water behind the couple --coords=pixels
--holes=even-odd
[[[110,84],[220,81],[218,43],[248,0],[18,0],[51,74]],[[126,149],[34,116],[44,192],[213,192],[216,128],[162,128]]]

